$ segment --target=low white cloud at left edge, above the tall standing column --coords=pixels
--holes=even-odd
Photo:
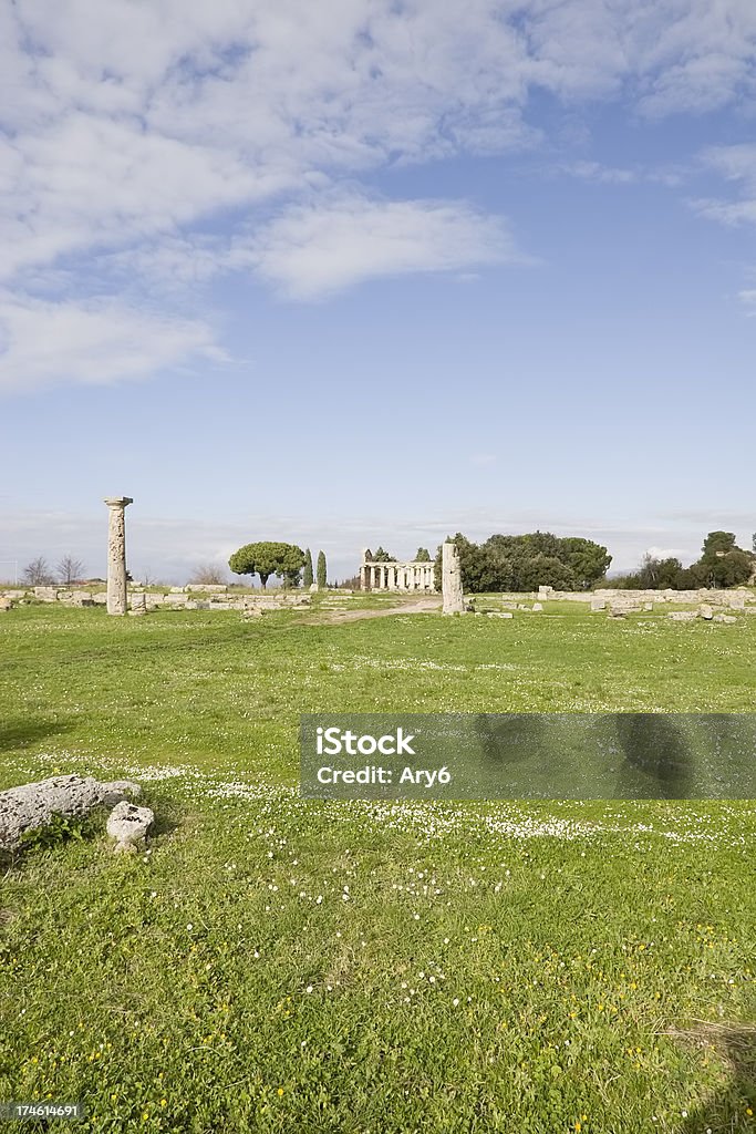
[[[223,357],[204,323],[118,303],[0,296],[0,391],[143,379],[197,356]]]

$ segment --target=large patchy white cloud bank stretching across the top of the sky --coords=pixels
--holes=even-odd
[[[755,40],[750,0],[468,0],[464,20],[431,0],[18,0],[0,15],[2,270],[316,171],[532,144],[534,86],[711,109],[753,82]]]

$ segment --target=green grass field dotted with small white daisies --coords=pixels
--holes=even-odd
[[[750,712],[756,618],[301,621],[2,616],[0,788],[129,775],[158,828],[8,864],[0,1100],[97,1132],[755,1129],[751,802],[303,801],[297,727]]]

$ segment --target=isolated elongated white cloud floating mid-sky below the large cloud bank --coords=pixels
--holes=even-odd
[[[358,195],[286,210],[256,236],[249,255],[263,277],[297,299],[377,277],[523,259],[500,219],[462,202]]]

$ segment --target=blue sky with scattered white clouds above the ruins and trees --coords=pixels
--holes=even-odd
[[[753,0],[0,0],[0,577],[750,547]]]

